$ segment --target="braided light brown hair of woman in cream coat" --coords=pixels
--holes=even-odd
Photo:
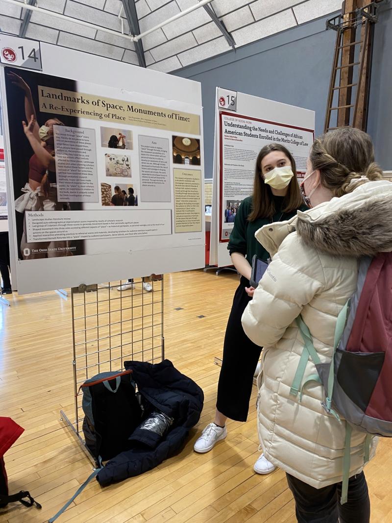
[[[353,191],[367,182],[365,177],[383,179],[382,169],[374,161],[372,139],[353,127],[322,134],[315,140],[309,158],[313,169],[320,170],[321,184],[334,196]]]

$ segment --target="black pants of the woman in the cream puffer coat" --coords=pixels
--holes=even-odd
[[[370,499],[365,474],[349,479],[348,501],[340,504],[342,484],[336,483],[314,488],[286,474],[287,483],[295,499],[295,514],[298,523],[368,523],[370,521]]]

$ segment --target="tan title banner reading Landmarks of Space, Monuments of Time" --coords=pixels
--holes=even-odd
[[[200,134],[199,115],[188,112],[129,104],[125,100],[102,98],[41,85],[38,86],[38,98],[41,112],[109,122],[121,121],[134,126]]]

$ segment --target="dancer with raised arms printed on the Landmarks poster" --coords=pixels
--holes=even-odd
[[[37,123],[30,87],[15,73],[7,73],[11,83],[25,95],[26,121],[22,122],[33,155],[29,161],[28,183],[21,189],[24,193],[15,200],[15,209],[25,211],[62,211],[66,203],[57,201],[56,164],[54,159],[53,126],[63,126],[58,118],[50,118],[43,126]],[[67,256],[67,242],[27,242],[26,219],[20,243],[24,259]]]

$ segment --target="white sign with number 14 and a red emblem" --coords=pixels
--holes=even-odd
[[[0,63],[42,71],[40,43],[0,33]]]

